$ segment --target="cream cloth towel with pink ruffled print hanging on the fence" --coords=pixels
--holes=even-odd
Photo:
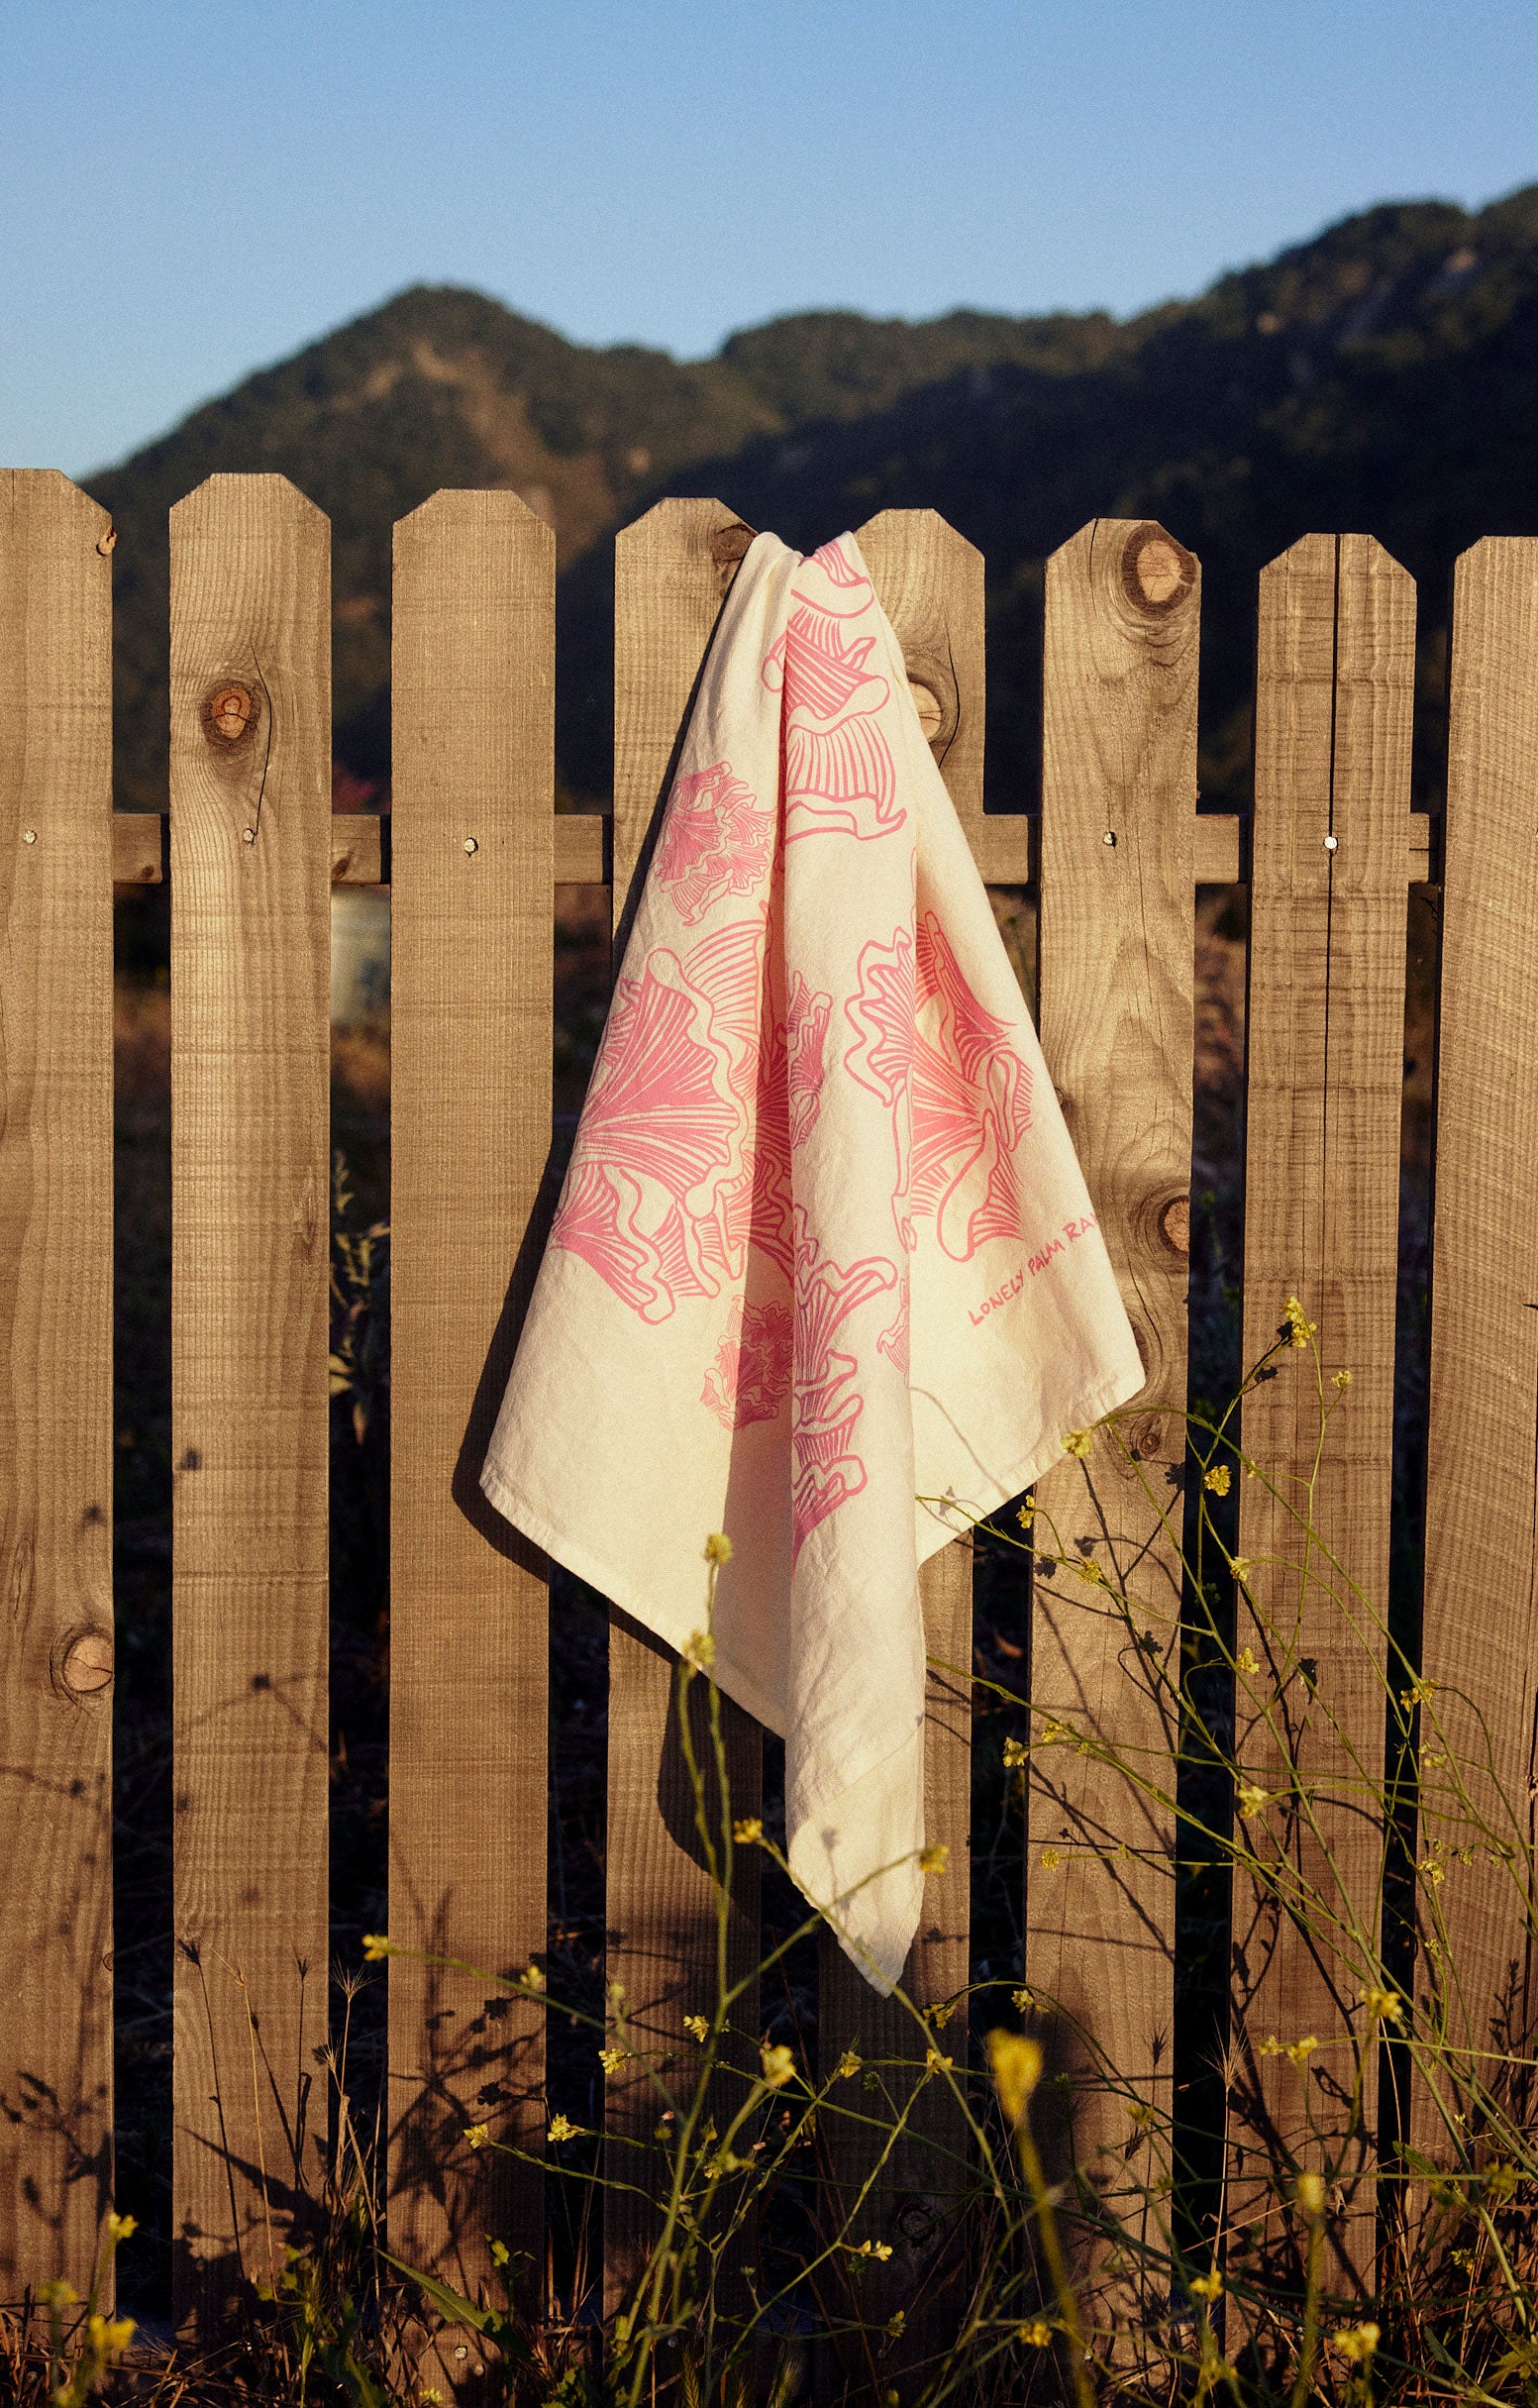
[[[705,662],[481,1488],[785,1736],[789,1869],[917,1929],[919,1563],[1143,1385],[852,535],[761,535]]]

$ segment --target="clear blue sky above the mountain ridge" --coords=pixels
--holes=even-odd
[[[1533,0],[0,0],[0,462],[75,474],[416,279],[710,352],[1117,313],[1538,181]]]

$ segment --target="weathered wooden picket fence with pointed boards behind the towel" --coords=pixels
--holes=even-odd
[[[477,1471],[527,1296],[551,1153],[551,910],[609,884],[616,925],[712,621],[751,532],[669,501],[616,544],[614,814],[554,811],[554,539],[513,494],[436,494],[395,530],[388,819],[330,811],[327,520],[279,477],[212,477],[171,513],[176,2251],[183,2307],[260,2271],[318,2141],[327,2030],[327,898],[392,893],[390,1936],[486,1967],[546,1941],[546,1584]],[[1360,535],[1307,535],[1261,576],[1254,824],[1196,811],[1196,561],[1098,520],[1054,554],[1035,819],[982,814],[980,554],[927,510],[859,530],[936,759],[994,884],[1040,896],[1040,1031],[1134,1315],[1136,1454],[1182,1481],[1199,884],[1252,889],[1244,1353],[1283,1300],[1350,1368],[1317,1495],[1329,1546],[1389,1582],[1406,889],[1442,879],[1435,1334],[1422,1659],[1483,1714],[1490,1780],[1531,1782],[1538,1693],[1538,542],[1456,578],[1447,845],[1410,811],[1415,592]],[[0,2297],[77,2283],[111,2201],[111,1149],[113,881],[161,877],[161,821],[111,811],[103,513],[55,474],[0,479]],[[1247,1447],[1307,1471],[1300,1382],[1247,1404]],[[1037,1572],[1037,1710],[1155,1772],[1177,1746],[1179,1565],[1148,1488],[1100,1466],[1098,1531],[1148,1630]],[[1107,1486],[1110,1481],[1110,1486]],[[1042,1503],[1066,1529],[1083,1466]],[[1240,1548],[1285,1534],[1259,1483]],[[1283,1548],[1285,1551],[1285,1548]],[[931,1652],[970,1662],[970,1556],[927,1572]],[[1343,1748],[1384,1746],[1382,1664],[1305,1606],[1297,1659],[1343,1736],[1300,1763],[1343,1866],[1382,1835]],[[679,2032],[708,1991],[672,1666],[611,1630],[609,1975]],[[758,1729],[729,1717],[739,1811]],[[1033,1777],[1023,1977],[1167,2112],[1175,1832],[1100,1753]],[[1264,1767],[1261,1767],[1264,1772]],[[1170,1787],[1167,1770],[1163,1787]],[[929,1823],[951,1845],[910,1989],[968,1979],[968,1695],[934,1678]],[[758,1950],[753,1854],[734,1953]],[[1526,1924],[1471,1866],[1442,1912],[1478,2044],[1521,2015]],[[1350,2013],[1285,1926],[1235,1898],[1240,2056]],[[833,2054],[891,2035],[833,1950]],[[1531,2018],[1528,2018],[1531,2020]],[[1524,2023],[1524,2035],[1528,2023]],[[1526,2044],[1526,2042],[1524,2042]],[[457,2136],[542,2146],[542,2008],[390,1965],[390,2230],[457,2280],[486,2232],[539,2249],[542,2182]],[[643,2109],[623,2073],[611,2119]],[[1278,2105],[1278,2114],[1285,2109]],[[1095,2119],[1102,2119],[1105,2129]],[[1119,2119],[1119,2121],[1117,2121]],[[1090,2097],[1081,2150],[1124,2141]],[[1242,2150],[1235,2172],[1244,2184]],[[876,2213],[876,2206],[874,2206]],[[888,2199],[895,2276],[927,2247]],[[607,2220],[609,2295],[643,2239]]]

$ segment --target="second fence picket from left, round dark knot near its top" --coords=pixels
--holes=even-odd
[[[330,525],[171,510],[176,2307],[282,2271],[327,2131]]]

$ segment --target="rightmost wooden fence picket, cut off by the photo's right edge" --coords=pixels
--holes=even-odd
[[[1533,2112],[1536,792],[1538,542],[1485,537],[1454,576],[1432,1223],[1415,2018],[1447,2056],[1413,2141],[1439,2165],[1487,2126],[1454,2124],[1471,2076]]]

